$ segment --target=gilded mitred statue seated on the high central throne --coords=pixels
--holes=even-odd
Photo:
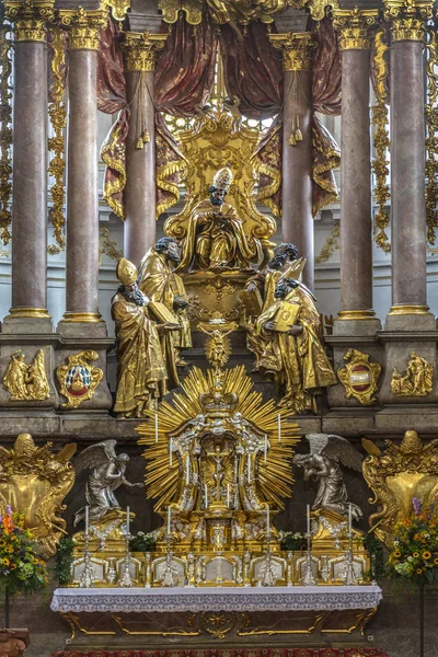
[[[182,272],[247,268],[261,261],[260,240],[245,234],[235,208],[224,203],[232,177],[230,169],[220,169],[212,178],[210,198],[194,207],[182,243]]]

